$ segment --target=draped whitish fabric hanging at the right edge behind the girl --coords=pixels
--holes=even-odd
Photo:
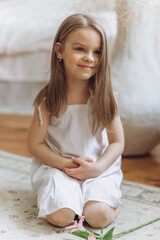
[[[116,11],[111,72],[120,94],[124,155],[143,155],[160,142],[160,2],[117,0]]]

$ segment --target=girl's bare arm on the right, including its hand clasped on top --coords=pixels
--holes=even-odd
[[[84,161],[83,157],[74,158],[72,161],[79,164],[79,167],[75,169],[65,168],[64,172],[73,178],[86,180],[97,177],[107,170],[123,153],[124,149],[123,127],[119,115],[113,119],[110,128],[111,130],[108,131],[109,146],[97,162]]]

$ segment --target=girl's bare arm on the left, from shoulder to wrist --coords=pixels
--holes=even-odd
[[[64,169],[64,167],[77,167],[77,164],[73,163],[71,159],[66,159],[56,154],[45,144],[45,136],[50,120],[50,113],[45,107],[45,102],[42,102],[41,104],[41,116],[43,119],[42,125],[40,125],[38,109],[35,108],[28,132],[28,150],[30,154],[39,159],[42,163],[60,170]]]

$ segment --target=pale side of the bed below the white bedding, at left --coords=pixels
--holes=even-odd
[[[49,51],[0,56],[0,82],[43,82],[49,68]]]

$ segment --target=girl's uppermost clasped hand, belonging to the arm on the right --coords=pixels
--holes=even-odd
[[[65,172],[68,176],[80,181],[98,176],[95,163],[92,159],[88,157],[72,158],[72,162],[78,164],[79,166],[71,169],[64,168],[63,172]]]

